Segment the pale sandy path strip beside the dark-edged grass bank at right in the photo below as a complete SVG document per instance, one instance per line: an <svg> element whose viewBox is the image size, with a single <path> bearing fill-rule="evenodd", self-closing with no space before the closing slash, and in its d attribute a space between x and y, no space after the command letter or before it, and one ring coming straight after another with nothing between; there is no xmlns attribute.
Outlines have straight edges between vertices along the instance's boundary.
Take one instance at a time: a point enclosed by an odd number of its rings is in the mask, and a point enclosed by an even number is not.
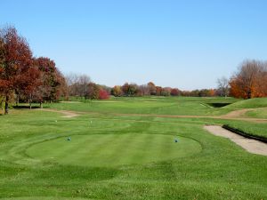
<svg viewBox="0 0 267 200"><path fill-rule="evenodd" d="M204 128L206 131L211 132L216 136L232 140L240 147L246 149L249 153L267 156L267 144L261 141L244 138L243 136L223 129L223 127L218 125L206 125Z"/></svg>

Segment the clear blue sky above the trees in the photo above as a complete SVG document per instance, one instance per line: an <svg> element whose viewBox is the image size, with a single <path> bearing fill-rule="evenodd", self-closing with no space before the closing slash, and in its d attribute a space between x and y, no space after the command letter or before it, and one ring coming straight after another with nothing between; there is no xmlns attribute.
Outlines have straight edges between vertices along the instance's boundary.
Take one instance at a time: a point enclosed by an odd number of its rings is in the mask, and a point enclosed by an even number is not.
<svg viewBox="0 0 267 200"><path fill-rule="evenodd" d="M98 84L214 88L267 60L266 0L0 0L36 57Z"/></svg>

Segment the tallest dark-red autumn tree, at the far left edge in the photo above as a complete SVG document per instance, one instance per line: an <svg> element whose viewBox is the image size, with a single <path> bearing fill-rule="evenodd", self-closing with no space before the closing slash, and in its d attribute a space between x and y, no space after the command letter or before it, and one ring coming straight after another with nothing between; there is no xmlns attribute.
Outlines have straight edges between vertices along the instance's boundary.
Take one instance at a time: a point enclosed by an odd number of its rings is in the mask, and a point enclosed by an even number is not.
<svg viewBox="0 0 267 200"><path fill-rule="evenodd" d="M30 88L36 76L28 76L33 69L32 52L26 39L19 36L16 28L2 28L0 33L0 91L5 97L5 114L8 114L8 103L15 92ZM27 77L27 78L26 78ZM28 80L26 83L25 78Z"/></svg>

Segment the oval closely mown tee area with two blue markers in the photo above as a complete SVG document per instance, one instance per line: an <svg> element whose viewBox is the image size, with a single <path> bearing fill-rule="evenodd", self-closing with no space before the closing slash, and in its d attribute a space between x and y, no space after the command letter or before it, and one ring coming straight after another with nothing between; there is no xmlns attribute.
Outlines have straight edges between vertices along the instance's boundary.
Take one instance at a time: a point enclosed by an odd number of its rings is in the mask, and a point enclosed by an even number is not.
<svg viewBox="0 0 267 200"><path fill-rule="evenodd" d="M91 134L46 140L26 149L26 154L44 161L87 166L148 164L201 151L196 140L163 134Z"/></svg>

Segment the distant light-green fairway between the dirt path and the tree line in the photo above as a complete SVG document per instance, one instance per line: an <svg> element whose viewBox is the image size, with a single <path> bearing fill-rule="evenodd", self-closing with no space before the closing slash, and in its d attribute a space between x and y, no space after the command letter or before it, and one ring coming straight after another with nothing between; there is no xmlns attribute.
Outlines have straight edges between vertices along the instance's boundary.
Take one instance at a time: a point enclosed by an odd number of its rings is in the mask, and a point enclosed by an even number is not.
<svg viewBox="0 0 267 200"><path fill-rule="evenodd" d="M214 116L229 112L228 108L213 108L208 103L232 103L233 98L190 98L190 97L142 97L112 98L110 100L86 100L87 103L58 103L49 107L56 109L121 114L154 114L184 116Z"/></svg>

